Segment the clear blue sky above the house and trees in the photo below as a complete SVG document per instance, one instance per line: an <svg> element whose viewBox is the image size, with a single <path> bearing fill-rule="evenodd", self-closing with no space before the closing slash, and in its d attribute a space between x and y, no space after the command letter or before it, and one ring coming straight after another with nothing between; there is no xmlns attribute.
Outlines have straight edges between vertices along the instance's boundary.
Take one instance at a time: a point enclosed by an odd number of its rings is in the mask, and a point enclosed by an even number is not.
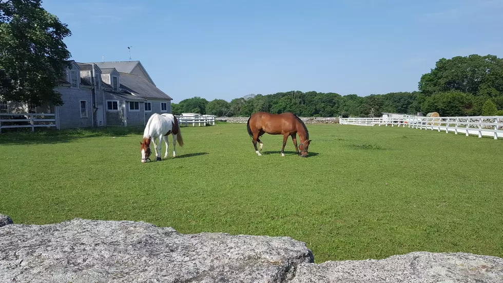
<svg viewBox="0 0 503 283"><path fill-rule="evenodd" d="M173 102L417 90L456 55L503 51L503 0L45 0L78 62L140 60Z"/></svg>

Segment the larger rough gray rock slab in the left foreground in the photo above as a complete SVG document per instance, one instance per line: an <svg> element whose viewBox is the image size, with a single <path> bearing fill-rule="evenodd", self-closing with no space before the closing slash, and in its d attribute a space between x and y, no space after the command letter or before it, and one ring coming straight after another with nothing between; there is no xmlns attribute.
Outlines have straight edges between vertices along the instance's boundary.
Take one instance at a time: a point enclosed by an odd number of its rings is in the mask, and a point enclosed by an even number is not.
<svg viewBox="0 0 503 283"><path fill-rule="evenodd" d="M0 228L0 282L283 282L313 262L288 237L184 235L132 221Z"/></svg>

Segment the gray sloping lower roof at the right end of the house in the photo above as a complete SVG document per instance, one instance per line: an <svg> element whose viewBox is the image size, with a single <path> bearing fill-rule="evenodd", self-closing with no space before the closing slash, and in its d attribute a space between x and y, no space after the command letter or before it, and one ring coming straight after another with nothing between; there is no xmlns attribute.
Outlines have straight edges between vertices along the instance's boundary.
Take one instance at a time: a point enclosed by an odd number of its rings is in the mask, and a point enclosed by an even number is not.
<svg viewBox="0 0 503 283"><path fill-rule="evenodd" d="M153 98L173 100L162 90L160 90L138 74L130 74L124 72L119 72L119 74L121 75L121 88L125 89L128 92L134 93L138 97L143 97L146 99Z"/></svg>

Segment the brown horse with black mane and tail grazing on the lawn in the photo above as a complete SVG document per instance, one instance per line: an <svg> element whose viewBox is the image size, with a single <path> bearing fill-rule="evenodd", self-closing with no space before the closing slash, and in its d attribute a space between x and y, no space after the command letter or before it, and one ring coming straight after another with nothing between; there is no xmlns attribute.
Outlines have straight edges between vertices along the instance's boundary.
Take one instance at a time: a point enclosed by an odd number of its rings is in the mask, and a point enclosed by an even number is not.
<svg viewBox="0 0 503 283"><path fill-rule="evenodd" d="M253 138L253 146L255 146L255 153L261 156L257 149L257 142L260 143L260 151L264 144L260 141L260 137L267 133L269 135L283 135L283 147L281 147L281 156L285 156L284 150L288 137L292 137L295 145L295 151L302 157L307 157L307 149L309 147L309 132L300 120L299 117L287 112L283 114L270 114L267 112L256 112L251 115L246 124L248 134ZM300 137L300 145L297 147L297 133ZM299 153L300 149L300 153Z"/></svg>

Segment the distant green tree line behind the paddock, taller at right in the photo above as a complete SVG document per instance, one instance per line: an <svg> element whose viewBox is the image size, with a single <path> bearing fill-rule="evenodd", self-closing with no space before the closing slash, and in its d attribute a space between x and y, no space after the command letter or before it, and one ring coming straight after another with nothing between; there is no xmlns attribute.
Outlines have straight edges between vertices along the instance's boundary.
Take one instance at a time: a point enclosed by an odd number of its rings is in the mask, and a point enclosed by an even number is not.
<svg viewBox="0 0 503 283"><path fill-rule="evenodd" d="M173 114L250 116L257 111L303 117L380 117L381 112L440 116L503 116L503 59L495 55L442 58L421 76L418 91L360 97L335 92L287 91L247 95L230 102L194 97L171 104ZM499 110L498 110L499 109Z"/></svg>

